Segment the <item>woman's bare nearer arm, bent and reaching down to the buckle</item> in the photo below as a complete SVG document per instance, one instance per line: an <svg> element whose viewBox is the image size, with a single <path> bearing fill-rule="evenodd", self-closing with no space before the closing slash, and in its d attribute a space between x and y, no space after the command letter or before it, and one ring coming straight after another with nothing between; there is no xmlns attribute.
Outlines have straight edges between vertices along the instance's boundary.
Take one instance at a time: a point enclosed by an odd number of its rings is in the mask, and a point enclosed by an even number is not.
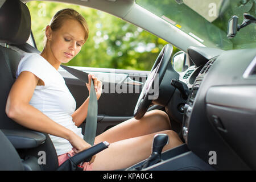
<svg viewBox="0 0 256 182"><path fill-rule="evenodd" d="M38 81L39 78L31 72L24 71L20 73L7 98L7 116L28 129L69 140L77 152L90 147L73 131L52 121L47 115L29 104Z"/></svg>

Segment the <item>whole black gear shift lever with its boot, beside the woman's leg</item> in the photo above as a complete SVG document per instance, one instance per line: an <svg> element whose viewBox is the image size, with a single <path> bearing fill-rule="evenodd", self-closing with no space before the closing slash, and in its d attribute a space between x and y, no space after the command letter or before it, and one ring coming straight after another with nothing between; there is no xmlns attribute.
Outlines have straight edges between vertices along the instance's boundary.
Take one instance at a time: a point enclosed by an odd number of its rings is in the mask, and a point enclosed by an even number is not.
<svg viewBox="0 0 256 182"><path fill-rule="evenodd" d="M169 136L167 134L156 134L153 139L150 157L142 164L142 166L136 167L135 170L141 170L159 163L161 161L163 147L168 143Z"/></svg>

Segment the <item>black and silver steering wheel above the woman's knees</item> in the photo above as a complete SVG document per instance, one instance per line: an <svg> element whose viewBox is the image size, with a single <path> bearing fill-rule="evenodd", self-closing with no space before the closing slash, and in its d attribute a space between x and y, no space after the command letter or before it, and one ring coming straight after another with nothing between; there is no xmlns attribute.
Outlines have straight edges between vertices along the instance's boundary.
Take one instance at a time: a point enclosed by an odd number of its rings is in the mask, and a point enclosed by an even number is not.
<svg viewBox="0 0 256 182"><path fill-rule="evenodd" d="M158 98L159 85L161 84L164 73L166 72L167 65L171 60L172 46L171 44L166 44L163 47L155 63L147 77L146 82L142 88L142 92L139 95L137 104L134 109L134 118L141 119L146 113L148 107L150 106L152 100ZM152 86L154 85L154 88Z"/></svg>

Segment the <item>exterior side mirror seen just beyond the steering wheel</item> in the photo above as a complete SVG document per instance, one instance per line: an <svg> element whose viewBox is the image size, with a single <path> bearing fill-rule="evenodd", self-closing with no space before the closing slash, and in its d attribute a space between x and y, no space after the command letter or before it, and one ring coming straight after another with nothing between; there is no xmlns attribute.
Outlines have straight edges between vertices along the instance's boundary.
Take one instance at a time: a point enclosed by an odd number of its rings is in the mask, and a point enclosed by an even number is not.
<svg viewBox="0 0 256 182"><path fill-rule="evenodd" d="M172 67L176 72L183 72L187 69L185 65L186 56L183 51L176 52L175 55L172 56Z"/></svg>

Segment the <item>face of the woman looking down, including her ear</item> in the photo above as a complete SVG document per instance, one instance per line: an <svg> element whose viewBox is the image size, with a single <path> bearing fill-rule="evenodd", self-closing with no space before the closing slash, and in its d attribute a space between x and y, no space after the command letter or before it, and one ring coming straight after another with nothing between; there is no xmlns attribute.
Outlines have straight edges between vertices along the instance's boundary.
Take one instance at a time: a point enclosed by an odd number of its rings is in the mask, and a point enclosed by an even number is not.
<svg viewBox="0 0 256 182"><path fill-rule="evenodd" d="M48 32L49 31L49 32ZM56 31L48 27L46 30L52 55L60 63L68 63L79 53L85 39L85 30L75 19L64 20Z"/></svg>

